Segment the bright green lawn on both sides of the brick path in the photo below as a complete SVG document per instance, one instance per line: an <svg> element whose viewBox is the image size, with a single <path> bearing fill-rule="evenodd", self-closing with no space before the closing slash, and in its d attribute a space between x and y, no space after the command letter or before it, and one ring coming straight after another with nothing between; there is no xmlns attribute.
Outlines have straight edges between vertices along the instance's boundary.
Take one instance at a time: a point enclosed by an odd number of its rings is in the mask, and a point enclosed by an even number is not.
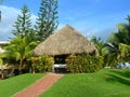
<svg viewBox="0 0 130 97"><path fill-rule="evenodd" d="M44 74L22 74L0 80L0 97L10 97ZM41 97L129 97L130 69L65 74Z"/></svg>

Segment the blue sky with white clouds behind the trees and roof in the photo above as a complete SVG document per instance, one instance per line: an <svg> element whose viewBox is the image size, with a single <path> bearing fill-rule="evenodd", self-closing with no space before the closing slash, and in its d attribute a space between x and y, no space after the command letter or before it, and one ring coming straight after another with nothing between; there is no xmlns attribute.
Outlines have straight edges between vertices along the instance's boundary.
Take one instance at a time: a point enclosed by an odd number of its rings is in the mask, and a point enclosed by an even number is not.
<svg viewBox="0 0 130 97"><path fill-rule="evenodd" d="M13 23L26 3L32 13L32 23L37 17L41 0L5 0L0 5L2 22L0 23L0 40L11 36ZM58 29L66 24L72 25L84 37L92 36L107 39L116 31L119 23L126 23L130 14L130 0L58 0Z"/></svg>

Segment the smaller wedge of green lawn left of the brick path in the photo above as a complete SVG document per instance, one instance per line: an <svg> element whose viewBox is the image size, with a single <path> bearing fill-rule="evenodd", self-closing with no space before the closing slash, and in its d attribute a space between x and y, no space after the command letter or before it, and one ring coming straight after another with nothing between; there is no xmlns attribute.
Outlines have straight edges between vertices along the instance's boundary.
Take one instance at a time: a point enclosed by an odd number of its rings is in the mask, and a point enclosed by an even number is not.
<svg viewBox="0 0 130 97"><path fill-rule="evenodd" d="M44 74L26 73L5 80L0 80L0 97L10 97L29 86Z"/></svg>

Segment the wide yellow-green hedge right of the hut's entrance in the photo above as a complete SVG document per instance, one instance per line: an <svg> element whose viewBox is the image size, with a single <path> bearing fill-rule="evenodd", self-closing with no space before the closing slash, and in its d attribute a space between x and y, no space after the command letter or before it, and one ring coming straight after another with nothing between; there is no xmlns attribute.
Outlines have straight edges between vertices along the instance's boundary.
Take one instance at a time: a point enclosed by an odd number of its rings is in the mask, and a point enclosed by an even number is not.
<svg viewBox="0 0 130 97"><path fill-rule="evenodd" d="M90 55L70 55L66 58L67 70L73 73L90 73L102 69L103 58Z"/></svg>

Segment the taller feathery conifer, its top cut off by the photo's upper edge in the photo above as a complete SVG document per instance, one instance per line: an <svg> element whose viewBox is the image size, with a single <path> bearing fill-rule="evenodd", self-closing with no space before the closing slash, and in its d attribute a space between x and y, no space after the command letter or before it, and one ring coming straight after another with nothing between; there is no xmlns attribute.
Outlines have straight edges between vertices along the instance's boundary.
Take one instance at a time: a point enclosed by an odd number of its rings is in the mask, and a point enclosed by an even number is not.
<svg viewBox="0 0 130 97"><path fill-rule="evenodd" d="M41 0L35 26L38 42L44 41L57 28L57 0Z"/></svg>

